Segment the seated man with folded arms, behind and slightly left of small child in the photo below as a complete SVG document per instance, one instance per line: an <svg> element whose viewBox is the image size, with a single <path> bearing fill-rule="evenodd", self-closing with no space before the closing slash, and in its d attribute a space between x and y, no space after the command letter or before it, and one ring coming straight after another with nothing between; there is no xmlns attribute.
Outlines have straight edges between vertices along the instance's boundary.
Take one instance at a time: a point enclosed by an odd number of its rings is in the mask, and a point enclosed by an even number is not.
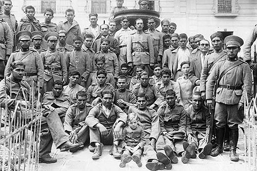
<svg viewBox="0 0 257 171"><path fill-rule="evenodd" d="M126 85L127 77L123 75L118 76L118 89L115 90L114 104L127 113L128 107L136 103L136 96L132 91L126 89Z"/></svg>

